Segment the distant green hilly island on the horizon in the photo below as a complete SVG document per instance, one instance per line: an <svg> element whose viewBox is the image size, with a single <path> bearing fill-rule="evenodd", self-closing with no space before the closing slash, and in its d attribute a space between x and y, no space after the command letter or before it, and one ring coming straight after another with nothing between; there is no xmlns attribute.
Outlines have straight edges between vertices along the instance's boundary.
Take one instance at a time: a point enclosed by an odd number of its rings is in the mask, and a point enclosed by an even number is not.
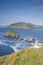
<svg viewBox="0 0 43 65"><path fill-rule="evenodd" d="M9 25L8 27L11 27L11 28L43 28L43 26L40 26L40 25L35 25L35 24L32 24L32 23L24 23L24 22L18 22L18 23L14 23L14 24L11 24Z"/></svg>

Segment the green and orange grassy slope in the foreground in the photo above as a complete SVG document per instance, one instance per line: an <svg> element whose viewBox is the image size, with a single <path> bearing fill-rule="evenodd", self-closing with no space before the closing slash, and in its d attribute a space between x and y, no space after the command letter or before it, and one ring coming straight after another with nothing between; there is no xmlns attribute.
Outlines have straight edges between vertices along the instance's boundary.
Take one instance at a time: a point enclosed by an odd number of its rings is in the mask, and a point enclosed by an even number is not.
<svg viewBox="0 0 43 65"><path fill-rule="evenodd" d="M26 48L19 53L0 57L0 65L43 65L43 47Z"/></svg>

